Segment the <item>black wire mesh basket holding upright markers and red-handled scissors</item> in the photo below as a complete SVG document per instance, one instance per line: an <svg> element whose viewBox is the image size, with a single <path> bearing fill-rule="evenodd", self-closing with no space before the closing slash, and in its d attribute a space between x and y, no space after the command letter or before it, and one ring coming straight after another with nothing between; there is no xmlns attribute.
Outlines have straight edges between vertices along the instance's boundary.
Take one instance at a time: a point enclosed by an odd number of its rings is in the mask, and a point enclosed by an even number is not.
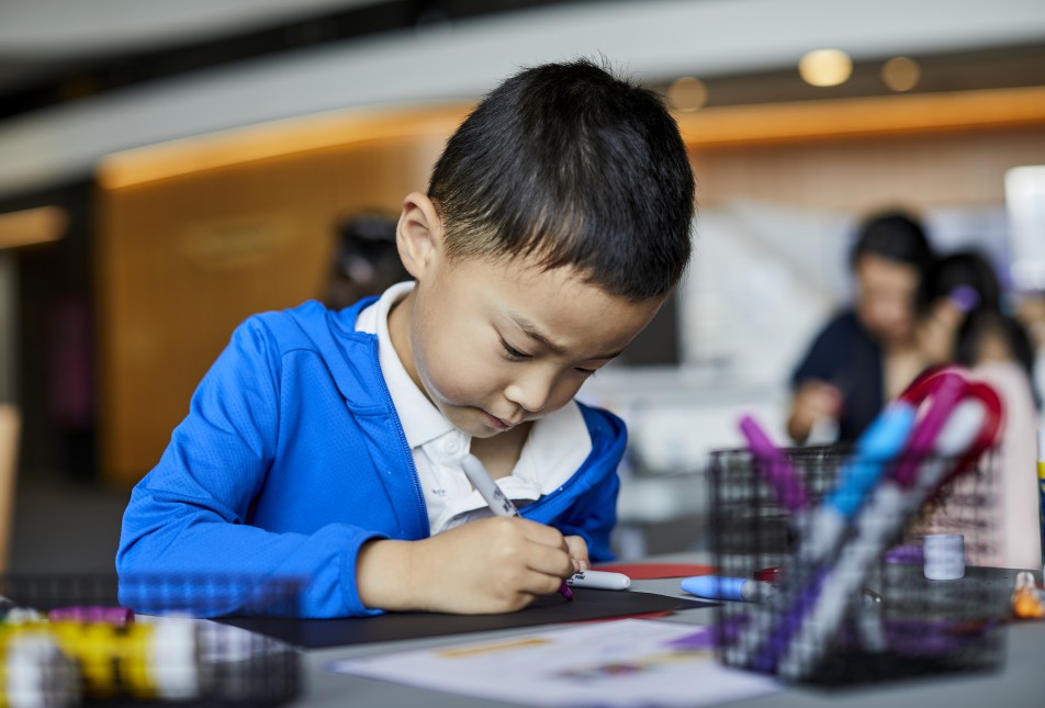
<svg viewBox="0 0 1045 708"><path fill-rule="evenodd" d="M852 685L997 667L1010 587L998 569L977 563L993 552L993 454L954 482L919 497L890 483L870 490L846 524L818 518L834 493L849 449L784 450L806 495L795 508L767 482L766 462L746 450L709 459L711 548L719 573L759 582L757 602L717 610L717 645L727 665L788 681ZM880 480L890 480L895 465ZM918 464L936 479L958 460ZM843 471L842 474L845 474ZM890 496L892 494L892 496ZM829 532L825 532L824 529ZM965 572L926 580L922 539L959 533Z"/></svg>

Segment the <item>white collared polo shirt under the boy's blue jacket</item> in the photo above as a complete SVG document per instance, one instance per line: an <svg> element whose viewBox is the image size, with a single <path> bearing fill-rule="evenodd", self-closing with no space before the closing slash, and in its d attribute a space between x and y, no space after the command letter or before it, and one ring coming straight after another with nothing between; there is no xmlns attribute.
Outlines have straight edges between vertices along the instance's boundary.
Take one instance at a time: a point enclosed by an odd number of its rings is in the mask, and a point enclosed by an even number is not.
<svg viewBox="0 0 1045 708"><path fill-rule="evenodd" d="M356 330L378 336L381 373L406 432L435 536L491 513L461 468L472 437L453 427L417 387L392 346L389 312L413 288L413 281L389 288L378 302L359 313ZM591 451L592 437L581 408L571 401L533 423L512 475L497 480L497 484L520 506L536 502L569 480Z"/></svg>

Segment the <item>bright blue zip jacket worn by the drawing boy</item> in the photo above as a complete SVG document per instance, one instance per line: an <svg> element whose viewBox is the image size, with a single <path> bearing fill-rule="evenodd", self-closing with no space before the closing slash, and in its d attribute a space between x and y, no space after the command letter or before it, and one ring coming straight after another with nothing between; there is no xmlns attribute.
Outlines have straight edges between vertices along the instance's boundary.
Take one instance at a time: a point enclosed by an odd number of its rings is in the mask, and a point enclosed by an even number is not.
<svg viewBox="0 0 1045 708"><path fill-rule="evenodd" d="M122 604L212 616L380 611L359 599L360 547L430 531L378 339L355 328L372 301L339 312L308 302L236 329L131 495L116 553ZM591 454L522 516L584 537L593 561L608 560L627 434L613 414L581 409ZM207 576L254 580L221 597L213 582L187 580ZM251 600L272 578L305 582L296 607Z"/></svg>

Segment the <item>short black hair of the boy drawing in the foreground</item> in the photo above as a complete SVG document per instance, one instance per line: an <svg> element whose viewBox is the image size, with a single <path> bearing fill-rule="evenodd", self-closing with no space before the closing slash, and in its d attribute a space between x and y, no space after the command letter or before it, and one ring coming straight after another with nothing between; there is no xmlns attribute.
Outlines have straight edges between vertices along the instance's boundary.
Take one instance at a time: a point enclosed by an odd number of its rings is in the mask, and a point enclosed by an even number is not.
<svg viewBox="0 0 1045 708"><path fill-rule="evenodd" d="M663 99L587 59L528 68L494 89L428 186L449 258L536 256L631 301L682 277L694 191Z"/></svg>

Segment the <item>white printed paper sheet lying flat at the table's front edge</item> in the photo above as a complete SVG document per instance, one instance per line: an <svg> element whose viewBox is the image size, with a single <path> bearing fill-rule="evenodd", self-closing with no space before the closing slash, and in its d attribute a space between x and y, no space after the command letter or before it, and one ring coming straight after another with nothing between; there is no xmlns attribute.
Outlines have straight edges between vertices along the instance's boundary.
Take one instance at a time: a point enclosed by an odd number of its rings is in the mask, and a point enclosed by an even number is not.
<svg viewBox="0 0 1045 708"><path fill-rule="evenodd" d="M332 663L330 671L533 706L708 706L779 684L722 666L708 627L621 619Z"/></svg>

